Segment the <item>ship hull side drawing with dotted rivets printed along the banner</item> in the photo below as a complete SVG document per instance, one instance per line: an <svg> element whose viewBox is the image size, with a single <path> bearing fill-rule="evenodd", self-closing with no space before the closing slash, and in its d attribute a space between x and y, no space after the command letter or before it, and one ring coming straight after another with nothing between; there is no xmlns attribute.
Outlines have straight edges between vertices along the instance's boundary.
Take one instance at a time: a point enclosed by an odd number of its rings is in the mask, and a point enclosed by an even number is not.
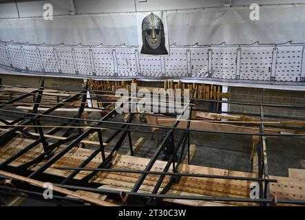
<svg viewBox="0 0 305 220"><path fill-rule="evenodd" d="M186 78L228 83L305 83L305 44L170 46L170 56L137 46L31 45L0 41L0 67L44 76Z"/></svg>

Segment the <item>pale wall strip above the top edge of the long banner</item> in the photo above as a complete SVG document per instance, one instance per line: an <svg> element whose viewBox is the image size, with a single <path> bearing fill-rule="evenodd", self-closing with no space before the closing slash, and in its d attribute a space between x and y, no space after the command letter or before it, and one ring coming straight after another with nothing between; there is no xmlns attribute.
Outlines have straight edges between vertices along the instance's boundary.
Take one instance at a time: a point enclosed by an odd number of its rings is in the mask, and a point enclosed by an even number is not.
<svg viewBox="0 0 305 220"><path fill-rule="evenodd" d="M222 7L230 0L49 0L16 3L0 2L1 18L41 17L43 4L52 3L54 15L141 12ZM231 0L231 5L305 3L305 0ZM18 10L17 10L18 8ZM19 13L18 13L19 12Z"/></svg>

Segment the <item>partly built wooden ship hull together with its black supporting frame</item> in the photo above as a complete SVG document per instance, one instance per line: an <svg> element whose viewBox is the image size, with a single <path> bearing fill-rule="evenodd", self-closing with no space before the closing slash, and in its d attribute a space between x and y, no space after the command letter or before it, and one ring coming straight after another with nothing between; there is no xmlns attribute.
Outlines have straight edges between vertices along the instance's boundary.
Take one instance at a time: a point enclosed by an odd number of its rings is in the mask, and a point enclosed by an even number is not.
<svg viewBox="0 0 305 220"><path fill-rule="evenodd" d="M165 87L175 89L171 83ZM180 87L181 83L177 85ZM211 100L207 91L200 90L204 87L199 86L198 90L194 85L191 87L189 120L176 120L176 115L150 115L155 117L156 123L135 123L141 113L129 113L125 122L116 122L109 120L115 117L116 107L109 109L101 120L87 119L87 112L105 109L99 104L90 106L88 102L98 102L98 96L112 98L118 87L128 89L123 82L103 85L97 80L88 80L83 89L46 87L44 80L40 87L1 85L0 192L44 200L43 184L50 182L54 186L50 201L75 206L304 205L305 174L269 175L267 139L305 137L305 117L264 113L264 107L305 109L304 106L231 102L221 100L216 89L209 90L211 97L215 97ZM200 111L198 102L253 105L260 108L260 113ZM12 106L19 108L7 109ZM67 109L74 115L52 115L65 107L73 107L73 111ZM7 120L8 117L14 120ZM271 126L264 120L266 117L281 121ZM162 118L171 118L171 121ZM222 121L223 118L226 121ZM259 123L255 124L257 118ZM48 129L43 122L58 125ZM141 130L143 127L151 131ZM105 139L103 130L113 133ZM141 141L132 144L132 131L160 133L165 137L151 158L138 157ZM177 131L182 135L176 135ZM191 165L191 133L253 136L257 173ZM96 135L97 141L90 140L91 135ZM178 141L173 141L174 137ZM129 142L129 153L120 155L118 150L125 140ZM109 148L110 142L115 142L112 148ZM85 148L86 144L96 148ZM158 158L165 148L171 148L171 154L167 161L162 161ZM262 189L255 199L249 195L253 182Z"/></svg>

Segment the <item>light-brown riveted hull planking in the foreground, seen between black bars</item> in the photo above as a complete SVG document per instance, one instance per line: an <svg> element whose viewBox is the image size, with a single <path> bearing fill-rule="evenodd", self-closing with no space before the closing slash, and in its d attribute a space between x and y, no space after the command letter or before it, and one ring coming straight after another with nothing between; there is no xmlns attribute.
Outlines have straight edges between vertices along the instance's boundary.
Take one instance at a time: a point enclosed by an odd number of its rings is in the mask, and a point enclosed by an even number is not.
<svg viewBox="0 0 305 220"><path fill-rule="evenodd" d="M16 154L33 140L26 140L23 138L15 137L8 142L5 146L0 147L0 162L5 161L12 155ZM63 146L61 146L63 148ZM61 150L59 148L57 151ZM74 148L64 157L59 159L53 166L45 170L45 173L67 177L70 171L59 170L54 166L74 166L77 167L85 160L93 150L86 148ZM25 153L23 156L12 162L11 166L19 166L38 157L43 152L41 144L32 148L31 151ZM143 157L132 157L129 155L116 155L113 161L112 168L124 168L132 170L144 170L149 159ZM37 164L31 170L36 170L42 166L44 162ZM96 156L87 167L97 167L101 163L101 155ZM156 161L151 170L162 171L167 162ZM293 170L291 173L295 173ZM204 166L193 166L188 164L180 164L180 173L196 173L196 174L210 174L210 175L231 175L239 177L257 177L254 173L244 173L234 170L224 170L219 168L209 168ZM89 171L81 171L76 175L76 179L81 179L84 175L90 173ZM94 182L103 184L100 188L107 188L112 190L130 190L138 179L139 174L134 173L98 173L98 177ZM151 192L156 186L158 175L147 175L145 181L140 187L139 192ZM299 172L298 175L293 177L275 177L270 176L271 179L277 179L277 183L271 183L271 196L276 195L277 199L304 199L305 198L305 172ZM169 177L165 177L163 184L160 188L165 186L169 181ZM51 180L52 182L52 180ZM250 181L240 181L231 179L208 179L199 177L182 177L179 184L173 184L169 190L169 195L205 195L205 196L218 196L218 197L248 197L251 184ZM159 190L159 192L160 192ZM106 197L99 197L105 199ZM183 203L190 206L224 206L224 205L244 205L244 206L257 206L256 203L214 203L204 201L187 201L179 199L167 199L173 203Z"/></svg>

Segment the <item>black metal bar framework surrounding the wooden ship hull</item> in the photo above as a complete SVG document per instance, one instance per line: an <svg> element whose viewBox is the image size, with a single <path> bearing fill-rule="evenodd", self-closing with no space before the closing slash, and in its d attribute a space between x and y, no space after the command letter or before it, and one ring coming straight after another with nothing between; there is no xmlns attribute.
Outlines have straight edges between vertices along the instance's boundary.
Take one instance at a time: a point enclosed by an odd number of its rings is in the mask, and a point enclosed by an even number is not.
<svg viewBox="0 0 305 220"><path fill-rule="evenodd" d="M8 87L6 85L2 85L3 87ZM33 87L35 88L35 87ZM17 131L23 133L24 135L35 138L34 142L32 144L29 144L25 148L23 148L19 153L13 155L12 157L8 158L5 162L2 162L0 164L1 170L9 170L12 173L17 173L19 175L26 175L33 179L43 179L44 171L50 166L52 166L56 161L61 159L63 155L65 155L68 151L70 151L72 148L78 146L78 144L81 143L82 140L84 140L86 137L88 137L92 133L98 133L98 141L100 143L100 147L96 148L93 153L87 157L83 163L78 168L73 167L57 167L58 169L64 169L64 170L73 170L72 173L66 177L66 178L59 178L59 181L54 182L54 184L57 184L64 188L69 188L72 190L87 190L90 192L97 192L97 193L103 193L107 195L116 195L120 196L122 202L127 205L134 205L134 204L143 204L143 199L145 200L145 204L148 205L154 205L160 203L162 199L195 199L195 200L203 200L203 201L236 201L236 202L254 202L254 203L260 203L261 205L272 205L275 201L273 198L271 198L270 195L270 188L269 183L270 182L276 182L276 179L269 179L269 168L267 163L267 155L266 155L266 137L268 136L296 136L296 137L303 137L305 135L303 134L273 134L273 133L266 133L265 132L265 124L264 124L264 117L270 117L270 116L276 116L276 115L265 115L264 114L264 107L284 107L284 108L292 108L292 109L305 109L305 106L288 106L288 105L280 105L280 104L264 104L261 102L260 104L253 104L253 103L246 103L246 102L230 102L230 101L223 101L223 100L205 100L205 99L198 99L198 98L191 98L190 102L186 104L186 107L190 107L191 111L193 111L193 102L201 101L201 102L228 102L231 104L251 104L255 105L257 107L260 107L260 114L246 114L241 113L243 115L258 115L260 116L261 124L260 124L260 133L237 133L237 132L225 132L225 131L205 131L200 129L190 129L191 124L191 113L189 115L189 121L187 122L186 128L180 128L177 127L180 120L178 116L178 120L173 124L173 126L157 126L157 125L149 125L149 124L135 124L132 123L132 120L134 118L135 113L131 113L129 115L129 118L127 122L113 122L108 121L109 118L116 113L116 108L112 111L109 111L107 115L105 115L101 120L87 120L82 119L81 115L83 114L84 108L85 108L85 102L87 100L87 91L96 91L96 90L90 90L87 89L87 85L85 85L84 89L70 89L72 91L77 91L77 93L64 100L63 102L60 102L58 104L55 104L54 107L51 107L50 109L43 111L42 113L38 113L37 109L39 108L39 104L41 102L41 98L43 97L43 90L44 89L63 89L63 88L57 88L57 87L44 87L44 81L41 81L41 86L37 88L36 90L33 90L32 92L28 94L23 94L19 96L18 98L14 98L12 100L3 102L0 104L0 115L1 116L14 116L17 117L17 120L14 120L13 122L7 122L3 118L0 118L1 122L4 122L7 126L12 126L12 128L9 131L5 131L0 134L0 143L1 145L6 144L12 137L17 135ZM65 88L64 90L69 90ZM111 93L109 91L98 91L98 92L105 92L105 93ZM193 91L192 93L193 94ZM12 104L14 102L23 100L24 98L27 98L29 96L33 96L33 109L31 112L21 112L21 111L10 111L5 110L3 107L5 107L7 104ZM132 94L129 93L129 97L132 97ZM55 115L49 115L49 113L52 113L55 109L58 109L59 107L63 107L66 102L71 102L77 99L81 99L81 105L78 109L78 113L74 117L62 117L62 116L55 116ZM131 98L127 100L128 102L131 101ZM14 113L15 115L11 115L11 113ZM224 112L228 113L228 112ZM16 116L17 115L17 116ZM58 140L52 144L48 144L46 141L48 138L45 137L43 129L41 128L41 121L52 121L52 119L61 119L63 120L63 125L72 124L77 126L83 125L82 122L91 122L94 124L90 124L90 129L87 129L86 131L82 131L81 128L77 128L78 135L72 135L72 131L74 131L73 128L67 129L65 133L63 133L62 137L66 137L65 140ZM289 118L289 117L288 117ZM299 119L299 118L298 118ZM302 120L305 120L305 118L302 118ZM18 124L17 124L18 123ZM39 137L33 137L28 131L24 131L23 126L26 126L30 123L33 123L35 127L36 133L39 133ZM58 123L58 122L57 122ZM62 123L62 122L61 122ZM16 124L18 126L16 126ZM113 125L119 125L119 126L109 126L109 124ZM246 124L246 123L244 123ZM132 139L131 139L131 131L137 131L137 132L149 132L149 131L141 131L141 130L133 130L132 127L157 127L161 129L166 129L166 135L165 138L162 140L160 145L158 146L156 153L154 156L150 159L149 163L145 167L145 170L123 170L123 169L112 169L110 168L112 166L112 159L114 158L114 155L116 155L116 152L120 149L120 147L123 145L124 140L126 137L128 137L129 140L129 147L131 151L131 155L134 155L133 147L132 147ZM1 128L1 126L0 126ZM115 130L114 134L109 137L107 140L103 140L103 133L101 129L113 129ZM47 134L54 134L61 130L61 128L54 128L50 129L50 131L47 132ZM173 151L172 155L169 157L168 162L165 166L165 168L162 170L162 172L156 172L151 171L151 168L154 166L154 163L158 159L160 153L165 148L165 145L169 140L173 140L175 131L182 131L182 135L180 136L178 142L174 144L172 141L171 144L173 144ZM235 134L235 135L257 135L260 137L259 144L257 145L257 153L258 153L258 160L259 160L259 170L258 170L258 178L247 178L247 177L233 177L233 176L219 176L219 175L192 175L188 173L179 173L178 168L182 162L182 158L187 153L188 155L188 162L189 162L189 146L190 146L190 133L191 132L205 132L205 133L224 133L224 134ZM120 137L118 138L118 141L114 145L114 148L112 148L112 151L105 156L105 150L104 150L104 144L109 143L116 136L120 134ZM13 168L10 166L10 163L13 162L15 159L20 157L21 155L27 153L30 151L30 149L34 148L38 144L43 145L44 152L39 155L39 157L36 157L31 162L28 162L26 164L23 164L21 166ZM67 144L64 146L64 148L59 151L59 153L56 153L54 155L54 149L59 148L59 146ZM185 152L185 147L187 146L187 152ZM178 150L180 150L180 155L177 158ZM85 168L87 164L89 164L96 155L101 153L102 161L101 164L98 165L97 168ZM46 160L47 162L38 168L37 170L30 172L28 168L31 166L34 166L35 164L38 164L42 160ZM169 169L172 166L172 172L169 172ZM83 177L83 179L76 181L74 177L81 171L81 170L90 170L92 171L89 175L86 175ZM98 189L96 188L96 185L92 184L92 179L96 177L98 172L119 172L119 173L139 173L140 177L138 178L138 181L136 181L136 184L134 184L134 187L130 191L116 191L116 190L104 190L104 189ZM29 173L29 174L28 174ZM143 193L138 192L140 189L140 186L143 184L143 181L149 174L154 175L160 175L156 186L154 186L154 190L152 190L151 193ZM165 179L165 176L171 176L170 181L168 182L167 186L165 186L160 192L160 186ZM177 196L177 195L167 195L166 193L171 188L171 185L173 183L178 183L180 181L181 177L202 177L202 178L216 178L216 179L232 179L232 180L241 180L241 181L257 181L260 184L260 198L259 199L250 199L250 198L234 198L234 197L198 197L198 196ZM6 177L2 177L6 178ZM20 184L19 184L20 185ZM21 184L22 185L22 184ZM24 184L24 187L28 186L28 184ZM29 195L41 195L40 192L37 192L36 189L34 190L28 190L26 191L25 188L12 188L12 187L4 187L0 186L0 191L5 190L16 190L16 192L26 192ZM12 191L10 191L12 192ZM76 203L79 203L79 199L67 199L66 197L62 197L61 195L57 195L56 199L58 200L68 200L68 201L75 201ZM140 200L139 200L140 199ZM284 200L280 199L277 200L277 203L305 203L305 200Z"/></svg>

